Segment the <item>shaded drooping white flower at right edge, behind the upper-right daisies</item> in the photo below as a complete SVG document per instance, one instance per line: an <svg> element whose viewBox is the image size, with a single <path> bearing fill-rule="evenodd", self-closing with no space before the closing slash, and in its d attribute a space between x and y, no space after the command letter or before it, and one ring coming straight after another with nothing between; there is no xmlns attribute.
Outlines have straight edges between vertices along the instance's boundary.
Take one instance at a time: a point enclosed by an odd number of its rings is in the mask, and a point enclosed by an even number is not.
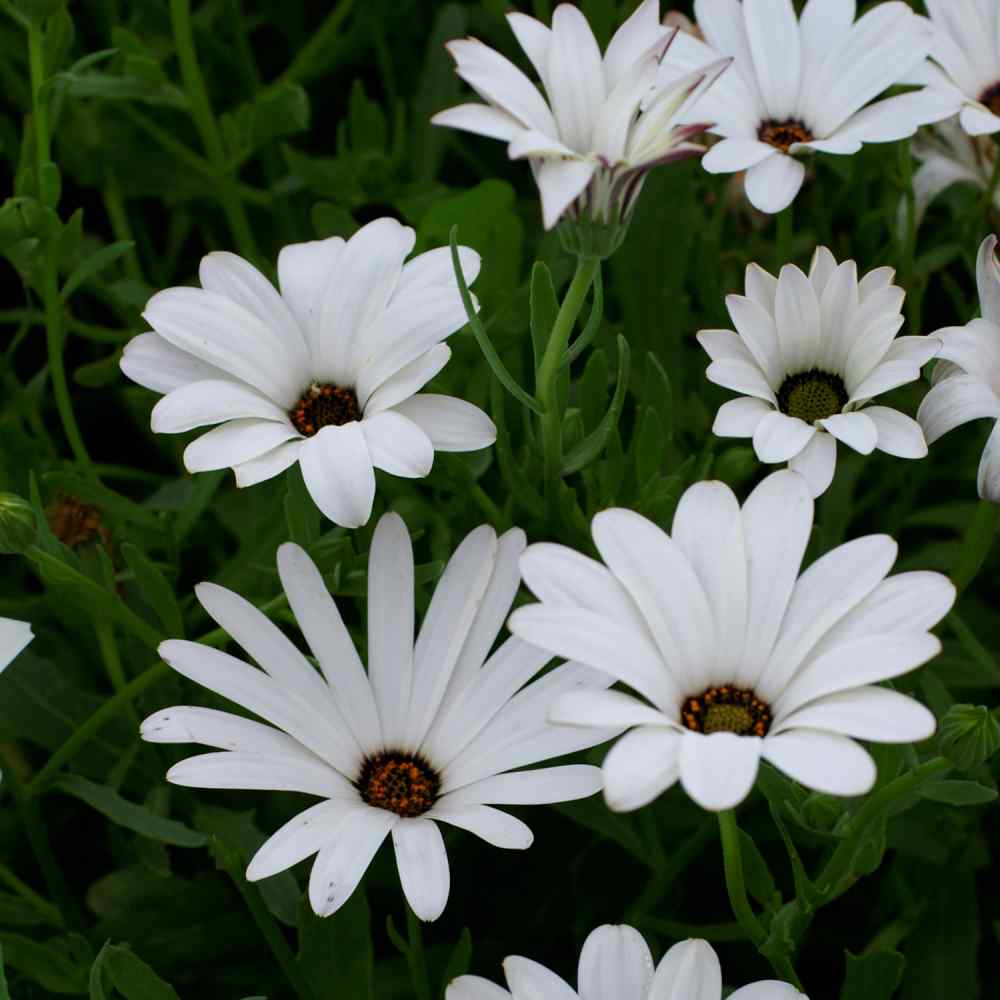
<svg viewBox="0 0 1000 1000"><path fill-rule="evenodd" d="M992 139L968 135L957 118L921 129L913 139L913 155L920 167L913 175L917 224L928 206L953 184L971 184L988 191L996 168L997 147ZM1000 191L993 194L993 207L1000 210ZM900 231L906 225L906 202L899 208Z"/></svg>

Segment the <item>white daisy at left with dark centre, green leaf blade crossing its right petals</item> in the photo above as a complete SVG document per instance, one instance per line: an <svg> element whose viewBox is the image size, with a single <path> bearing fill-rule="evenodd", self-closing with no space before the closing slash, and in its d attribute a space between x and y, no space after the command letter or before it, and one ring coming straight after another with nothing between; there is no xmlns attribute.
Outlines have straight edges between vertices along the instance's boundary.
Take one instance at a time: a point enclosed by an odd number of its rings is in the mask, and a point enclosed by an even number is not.
<svg viewBox="0 0 1000 1000"><path fill-rule="evenodd" d="M420 389L447 364L444 339L466 321L447 248L404 263L414 232L376 219L339 237L285 247L279 294L231 253L202 258L201 288L146 305L153 328L125 348L129 378L165 393L154 431L220 424L188 445L191 472L232 468L251 486L300 464L331 521L371 516L375 469L426 476L437 451L492 444L477 407ZM460 248L469 280L479 256Z"/></svg>

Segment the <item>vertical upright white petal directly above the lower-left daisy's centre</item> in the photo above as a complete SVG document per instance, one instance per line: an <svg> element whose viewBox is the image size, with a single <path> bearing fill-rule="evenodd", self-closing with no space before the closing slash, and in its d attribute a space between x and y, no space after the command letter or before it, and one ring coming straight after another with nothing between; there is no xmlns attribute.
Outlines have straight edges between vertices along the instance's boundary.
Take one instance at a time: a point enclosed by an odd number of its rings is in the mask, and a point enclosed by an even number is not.
<svg viewBox="0 0 1000 1000"><path fill-rule="evenodd" d="M387 745L402 745L413 687L413 547L403 519L383 514L368 554L368 674Z"/></svg>

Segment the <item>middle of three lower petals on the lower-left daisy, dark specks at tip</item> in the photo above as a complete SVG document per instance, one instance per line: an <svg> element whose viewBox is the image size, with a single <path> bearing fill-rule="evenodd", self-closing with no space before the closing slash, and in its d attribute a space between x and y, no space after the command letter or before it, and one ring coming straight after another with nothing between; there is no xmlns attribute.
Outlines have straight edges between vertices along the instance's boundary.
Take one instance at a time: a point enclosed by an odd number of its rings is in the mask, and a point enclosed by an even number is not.
<svg viewBox="0 0 1000 1000"><path fill-rule="evenodd" d="M344 817L309 875L309 902L318 916L330 916L350 899L386 834L398 822L395 813L365 805Z"/></svg>

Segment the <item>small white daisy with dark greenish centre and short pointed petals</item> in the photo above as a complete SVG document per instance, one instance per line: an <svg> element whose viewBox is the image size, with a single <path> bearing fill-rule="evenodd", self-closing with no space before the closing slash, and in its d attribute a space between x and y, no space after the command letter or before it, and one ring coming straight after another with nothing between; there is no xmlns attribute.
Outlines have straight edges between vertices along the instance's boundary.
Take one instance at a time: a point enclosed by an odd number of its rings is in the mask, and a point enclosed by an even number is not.
<svg viewBox="0 0 1000 1000"><path fill-rule="evenodd" d="M913 382L938 351L930 337L896 337L905 293L890 267L858 281L853 260L817 248L808 277L786 264L775 279L750 264L746 294L726 307L737 332L702 330L709 381L742 393L719 407L712 430L752 437L762 462L788 462L814 497L833 481L837 441L862 455L927 454L920 425L875 396Z"/></svg>

